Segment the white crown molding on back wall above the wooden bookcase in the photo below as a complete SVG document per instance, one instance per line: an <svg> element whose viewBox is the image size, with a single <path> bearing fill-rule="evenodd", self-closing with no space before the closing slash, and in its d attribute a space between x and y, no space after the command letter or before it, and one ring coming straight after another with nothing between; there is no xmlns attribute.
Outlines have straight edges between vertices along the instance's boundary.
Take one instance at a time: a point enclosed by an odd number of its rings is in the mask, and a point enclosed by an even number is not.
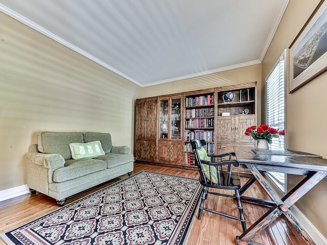
<svg viewBox="0 0 327 245"><path fill-rule="evenodd" d="M185 76L181 76L181 77L160 80L160 81L153 82L153 83L147 83L147 84L144 84L142 87L148 87L148 86L153 86L153 85L158 85L158 84L163 84L163 83L175 82L175 81L179 81L179 80L183 80L183 79L200 77L200 76L203 76L203 75L213 74L213 73L216 73L216 72L221 72L221 71L231 70L231 69L236 69L236 68L242 68L242 67L245 67L245 66L257 65L257 64L261 64L261 61L260 60L253 60L253 61L244 62L244 63L240 63L240 64L236 64L236 65L225 66L225 67L217 68L217 69L213 69L213 70L201 71L201 72L197 72L197 73L190 74L190 75L185 75Z"/></svg>

